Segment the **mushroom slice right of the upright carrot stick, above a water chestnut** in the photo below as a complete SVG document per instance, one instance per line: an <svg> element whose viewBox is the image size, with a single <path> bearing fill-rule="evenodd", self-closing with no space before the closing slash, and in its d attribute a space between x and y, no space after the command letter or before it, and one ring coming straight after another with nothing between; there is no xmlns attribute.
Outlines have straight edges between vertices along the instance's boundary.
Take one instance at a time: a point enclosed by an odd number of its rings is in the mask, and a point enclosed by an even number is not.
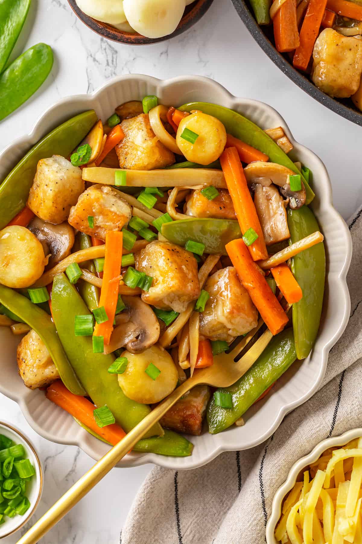
<svg viewBox="0 0 362 544"><path fill-rule="evenodd" d="M116 318L117 326L104 353L126 347L131 353L141 353L154 345L160 336L160 324L152 308L138 296L122 296L126 310Z"/></svg>

